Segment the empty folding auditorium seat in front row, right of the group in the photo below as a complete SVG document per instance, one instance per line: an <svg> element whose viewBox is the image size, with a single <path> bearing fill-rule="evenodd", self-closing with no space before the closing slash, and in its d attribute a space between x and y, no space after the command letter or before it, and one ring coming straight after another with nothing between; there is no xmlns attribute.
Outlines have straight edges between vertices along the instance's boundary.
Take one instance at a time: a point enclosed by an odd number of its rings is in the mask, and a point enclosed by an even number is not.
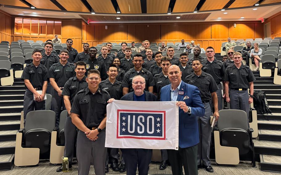
<svg viewBox="0 0 281 175"><path fill-rule="evenodd" d="M216 163L237 165L240 158L255 164L255 151L252 139L253 129L249 128L245 111L223 109L214 131Z"/></svg>

